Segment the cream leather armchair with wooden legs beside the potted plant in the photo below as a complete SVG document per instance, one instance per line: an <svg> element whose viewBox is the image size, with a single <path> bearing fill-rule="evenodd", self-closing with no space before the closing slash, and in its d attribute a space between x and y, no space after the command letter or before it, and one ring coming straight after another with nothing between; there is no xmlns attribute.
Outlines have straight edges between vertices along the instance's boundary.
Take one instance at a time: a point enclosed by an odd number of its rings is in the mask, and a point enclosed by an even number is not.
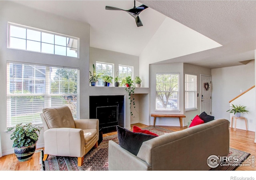
<svg viewBox="0 0 256 180"><path fill-rule="evenodd" d="M82 166L84 155L98 147L99 120L74 120L68 106L44 108L40 114L44 125L44 158L48 155L78 157Z"/></svg>

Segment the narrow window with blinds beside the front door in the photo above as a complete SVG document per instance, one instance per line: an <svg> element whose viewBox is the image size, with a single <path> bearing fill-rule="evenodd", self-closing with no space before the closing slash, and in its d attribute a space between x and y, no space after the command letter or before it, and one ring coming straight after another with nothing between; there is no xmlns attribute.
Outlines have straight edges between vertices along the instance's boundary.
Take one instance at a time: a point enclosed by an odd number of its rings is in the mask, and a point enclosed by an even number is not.
<svg viewBox="0 0 256 180"><path fill-rule="evenodd" d="M185 74L185 110L196 109L196 75Z"/></svg>

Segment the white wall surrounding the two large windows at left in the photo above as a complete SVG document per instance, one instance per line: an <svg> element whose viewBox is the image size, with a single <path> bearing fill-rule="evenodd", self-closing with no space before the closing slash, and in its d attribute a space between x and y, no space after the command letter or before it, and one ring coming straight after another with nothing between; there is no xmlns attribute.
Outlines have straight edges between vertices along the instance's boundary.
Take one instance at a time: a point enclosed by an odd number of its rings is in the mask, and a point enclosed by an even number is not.
<svg viewBox="0 0 256 180"><path fill-rule="evenodd" d="M57 32L80 38L80 58L71 58L52 54L42 54L7 48L7 22L14 22L34 28ZM80 118L89 117L89 96L85 93L89 89L89 24L64 19L54 14L33 10L17 5L11 1L0 1L0 136L2 155L13 153L10 133L6 133L6 62L18 61L36 64L49 64L80 68ZM37 146L43 146L43 130Z"/></svg>

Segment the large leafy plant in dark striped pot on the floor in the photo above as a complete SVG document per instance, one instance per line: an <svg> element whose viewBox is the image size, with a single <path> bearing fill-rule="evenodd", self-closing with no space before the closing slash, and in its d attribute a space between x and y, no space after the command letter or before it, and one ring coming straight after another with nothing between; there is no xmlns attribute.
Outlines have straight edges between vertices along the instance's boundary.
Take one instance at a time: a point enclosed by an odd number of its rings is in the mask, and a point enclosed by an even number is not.
<svg viewBox="0 0 256 180"><path fill-rule="evenodd" d="M7 131L13 130L14 127L8 128ZM22 125L17 124L14 132L12 132L10 139L14 140L13 148L14 154L18 161L23 162L30 160L36 150L36 143L40 134L41 128L37 125L28 123Z"/></svg>

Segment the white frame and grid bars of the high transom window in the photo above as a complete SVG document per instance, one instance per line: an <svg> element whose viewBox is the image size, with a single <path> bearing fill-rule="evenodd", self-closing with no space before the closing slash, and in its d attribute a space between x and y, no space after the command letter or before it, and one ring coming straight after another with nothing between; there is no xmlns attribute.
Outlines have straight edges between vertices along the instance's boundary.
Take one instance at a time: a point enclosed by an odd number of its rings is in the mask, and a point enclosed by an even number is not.
<svg viewBox="0 0 256 180"><path fill-rule="evenodd" d="M12 37L10 36L10 26L16 26L18 28L24 28L26 29L26 38L18 38L18 37ZM36 41L36 40L30 40L28 39L27 37L27 30L33 30L33 31L38 31L41 33L41 37L40 37L40 41ZM42 42L42 33L46 33L46 34L52 34L54 35L54 44L52 43L48 43L48 42ZM59 45L59 44L55 44L55 36L61 36L61 37L64 37L64 38L69 38L70 40L77 40L77 48L75 48L77 50L77 57L74 57L74 56L68 56L68 48L71 50L71 49L74 49L73 46L68 46L68 44L66 43L65 46L63 45ZM22 48L12 48L10 47L10 39L11 38L18 38L18 39L22 39L22 40L25 40L26 41L26 49L22 49ZM33 50L27 50L27 41L32 41L32 42L40 42L40 51L33 51ZM67 39L66 39L67 41ZM30 26L24 26L24 25L21 25L21 24L16 24L16 23L12 23L12 22L8 22L8 38L7 38L7 48L10 48L10 49L16 49L16 50L24 50L24 51L28 51L28 52L37 52L37 53L42 53L42 54L52 54L52 55L58 55L58 56L66 56L66 57L70 57L70 58L79 58L79 44L80 44L80 38L77 38L77 37L74 37L74 36L68 36L68 35L65 35L65 34L60 34L60 33L56 33L56 32L51 32L51 31L47 31L47 30L42 30L42 29L38 29L38 28L33 28L33 27L30 27ZM42 43L43 44L50 44L50 45L53 45L53 53L47 53L47 52L42 52ZM55 54L55 50L56 50L56 46L60 46L60 47L64 47L66 48L66 55L62 55L62 54Z"/></svg>

